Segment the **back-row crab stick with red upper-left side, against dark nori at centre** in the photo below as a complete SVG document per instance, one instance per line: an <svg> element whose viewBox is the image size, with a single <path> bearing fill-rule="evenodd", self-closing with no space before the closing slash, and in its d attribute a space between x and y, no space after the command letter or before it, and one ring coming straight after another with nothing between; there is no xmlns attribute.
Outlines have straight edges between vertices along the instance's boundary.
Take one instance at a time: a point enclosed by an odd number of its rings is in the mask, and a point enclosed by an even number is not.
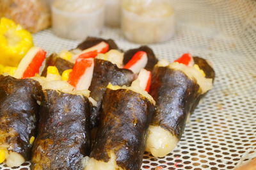
<svg viewBox="0 0 256 170"><path fill-rule="evenodd" d="M139 73L142 68L147 65L147 53L140 50L134 54L132 59L124 66L124 68L132 70L134 73Z"/></svg>

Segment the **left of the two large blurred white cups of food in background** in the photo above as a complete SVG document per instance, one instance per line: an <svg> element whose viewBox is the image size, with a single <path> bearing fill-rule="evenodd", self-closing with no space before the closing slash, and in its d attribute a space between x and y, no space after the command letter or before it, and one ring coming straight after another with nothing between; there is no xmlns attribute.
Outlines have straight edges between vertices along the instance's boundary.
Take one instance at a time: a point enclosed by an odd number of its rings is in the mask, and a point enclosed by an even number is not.
<svg viewBox="0 0 256 170"><path fill-rule="evenodd" d="M99 36L104 25L104 0L56 0L51 9L52 29L63 38Z"/></svg>

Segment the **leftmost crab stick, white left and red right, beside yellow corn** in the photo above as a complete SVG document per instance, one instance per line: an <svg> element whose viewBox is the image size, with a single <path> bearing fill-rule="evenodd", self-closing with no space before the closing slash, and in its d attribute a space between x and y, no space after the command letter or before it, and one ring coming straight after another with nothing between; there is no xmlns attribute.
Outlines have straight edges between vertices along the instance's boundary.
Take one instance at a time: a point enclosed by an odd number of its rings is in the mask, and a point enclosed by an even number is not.
<svg viewBox="0 0 256 170"><path fill-rule="evenodd" d="M39 73L40 66L45 59L46 52L40 47L32 47L28 53L19 63L19 66L14 73L14 77L17 79L26 79L34 77L36 73Z"/></svg>

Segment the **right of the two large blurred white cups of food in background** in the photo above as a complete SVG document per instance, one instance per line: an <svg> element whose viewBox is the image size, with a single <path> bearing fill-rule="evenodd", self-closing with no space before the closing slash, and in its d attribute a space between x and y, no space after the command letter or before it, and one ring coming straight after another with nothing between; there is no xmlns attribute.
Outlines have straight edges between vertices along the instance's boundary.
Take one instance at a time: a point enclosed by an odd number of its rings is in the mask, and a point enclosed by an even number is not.
<svg viewBox="0 0 256 170"><path fill-rule="evenodd" d="M131 42L147 44L169 40L175 27L170 1L124 0L121 27Z"/></svg>

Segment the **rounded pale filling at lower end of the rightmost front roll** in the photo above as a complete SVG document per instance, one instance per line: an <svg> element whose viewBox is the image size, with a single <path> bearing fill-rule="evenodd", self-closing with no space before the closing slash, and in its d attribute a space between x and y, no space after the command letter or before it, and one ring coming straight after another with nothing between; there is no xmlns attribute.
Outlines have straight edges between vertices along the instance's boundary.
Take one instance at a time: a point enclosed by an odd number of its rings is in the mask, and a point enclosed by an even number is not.
<svg viewBox="0 0 256 170"><path fill-rule="evenodd" d="M178 142L179 139L164 128L150 125L146 151L154 157L164 157L177 146Z"/></svg>

